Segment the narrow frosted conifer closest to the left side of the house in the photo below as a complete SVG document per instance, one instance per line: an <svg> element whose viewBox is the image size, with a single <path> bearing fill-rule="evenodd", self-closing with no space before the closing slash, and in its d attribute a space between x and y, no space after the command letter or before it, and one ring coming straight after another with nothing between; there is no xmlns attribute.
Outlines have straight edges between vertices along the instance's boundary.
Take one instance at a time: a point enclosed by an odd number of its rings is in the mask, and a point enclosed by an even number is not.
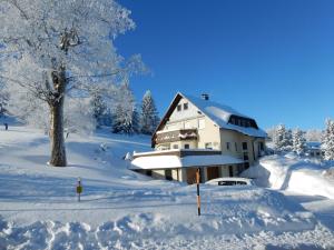
<svg viewBox="0 0 334 250"><path fill-rule="evenodd" d="M159 124L159 117L151 92L148 90L141 101L140 128L141 133L153 134Z"/></svg>

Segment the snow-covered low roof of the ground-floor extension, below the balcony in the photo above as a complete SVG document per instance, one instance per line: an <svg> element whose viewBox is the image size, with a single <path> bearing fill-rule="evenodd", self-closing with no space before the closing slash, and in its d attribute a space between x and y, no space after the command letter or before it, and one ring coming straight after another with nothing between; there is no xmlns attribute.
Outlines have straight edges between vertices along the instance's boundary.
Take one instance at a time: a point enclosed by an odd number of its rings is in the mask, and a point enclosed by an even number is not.
<svg viewBox="0 0 334 250"><path fill-rule="evenodd" d="M207 167L220 164L237 164L244 161L230 156L148 156L138 157L131 161L130 169L175 169L190 167Z"/></svg>

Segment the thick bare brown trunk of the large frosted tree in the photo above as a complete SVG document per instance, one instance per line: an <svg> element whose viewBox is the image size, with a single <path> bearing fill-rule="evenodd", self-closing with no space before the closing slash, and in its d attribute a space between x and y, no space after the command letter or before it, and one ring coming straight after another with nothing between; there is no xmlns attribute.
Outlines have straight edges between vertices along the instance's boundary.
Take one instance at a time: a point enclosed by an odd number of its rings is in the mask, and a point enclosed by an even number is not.
<svg viewBox="0 0 334 250"><path fill-rule="evenodd" d="M50 106L51 113L51 160L55 167L66 167L66 150L63 140L63 97Z"/></svg>

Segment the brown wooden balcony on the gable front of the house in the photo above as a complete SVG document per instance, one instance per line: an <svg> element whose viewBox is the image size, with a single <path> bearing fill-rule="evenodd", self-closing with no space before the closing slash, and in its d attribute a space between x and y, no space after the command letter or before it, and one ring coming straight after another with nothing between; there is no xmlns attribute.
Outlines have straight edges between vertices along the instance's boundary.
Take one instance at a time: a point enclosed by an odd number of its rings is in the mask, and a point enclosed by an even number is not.
<svg viewBox="0 0 334 250"><path fill-rule="evenodd" d="M155 143L169 143L184 140L197 140L197 129L179 129L173 131L158 131L155 137Z"/></svg>

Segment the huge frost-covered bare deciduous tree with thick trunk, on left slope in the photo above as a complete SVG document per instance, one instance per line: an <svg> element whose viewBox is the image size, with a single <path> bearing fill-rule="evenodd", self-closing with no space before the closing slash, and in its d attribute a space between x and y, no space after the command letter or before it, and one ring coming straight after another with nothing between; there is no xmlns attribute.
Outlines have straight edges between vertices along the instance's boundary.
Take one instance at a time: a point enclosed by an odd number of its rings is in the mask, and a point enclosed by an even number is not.
<svg viewBox="0 0 334 250"><path fill-rule="evenodd" d="M118 34L135 28L129 14L115 0L0 1L0 77L17 107L27 99L47 104L51 166L67 166L66 97L87 97L141 70L139 56L126 62L114 47Z"/></svg>

